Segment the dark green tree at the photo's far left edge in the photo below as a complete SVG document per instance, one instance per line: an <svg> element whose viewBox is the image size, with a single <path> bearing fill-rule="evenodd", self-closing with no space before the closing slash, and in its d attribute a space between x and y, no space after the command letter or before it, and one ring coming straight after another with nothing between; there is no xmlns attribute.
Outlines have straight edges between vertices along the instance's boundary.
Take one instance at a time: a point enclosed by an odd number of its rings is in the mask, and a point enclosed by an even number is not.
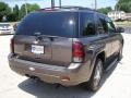
<svg viewBox="0 0 131 98"><path fill-rule="evenodd" d="M3 16L7 16L11 13L11 8L4 3L4 2L0 2L0 21L2 21Z"/></svg>

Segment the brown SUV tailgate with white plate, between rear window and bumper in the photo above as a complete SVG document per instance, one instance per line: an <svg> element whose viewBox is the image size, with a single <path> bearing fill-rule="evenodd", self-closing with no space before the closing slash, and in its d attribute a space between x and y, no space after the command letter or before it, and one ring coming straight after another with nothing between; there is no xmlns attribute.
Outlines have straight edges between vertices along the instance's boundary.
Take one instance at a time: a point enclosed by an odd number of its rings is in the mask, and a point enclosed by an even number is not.
<svg viewBox="0 0 131 98"><path fill-rule="evenodd" d="M68 65L72 61L72 38L15 36L14 52L20 59L34 62Z"/></svg>

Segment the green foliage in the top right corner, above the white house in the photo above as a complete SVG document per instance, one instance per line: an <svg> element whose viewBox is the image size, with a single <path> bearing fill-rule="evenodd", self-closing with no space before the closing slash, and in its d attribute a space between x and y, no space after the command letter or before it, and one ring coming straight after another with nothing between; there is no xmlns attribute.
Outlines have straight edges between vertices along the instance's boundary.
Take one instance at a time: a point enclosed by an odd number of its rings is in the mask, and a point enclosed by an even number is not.
<svg viewBox="0 0 131 98"><path fill-rule="evenodd" d="M131 12L131 0L119 0L116 7L118 10Z"/></svg>

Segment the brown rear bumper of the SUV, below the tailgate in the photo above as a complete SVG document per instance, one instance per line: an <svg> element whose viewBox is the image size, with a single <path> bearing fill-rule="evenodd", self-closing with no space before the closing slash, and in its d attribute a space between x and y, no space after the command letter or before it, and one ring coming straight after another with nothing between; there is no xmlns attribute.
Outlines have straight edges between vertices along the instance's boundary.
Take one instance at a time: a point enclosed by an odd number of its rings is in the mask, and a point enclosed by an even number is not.
<svg viewBox="0 0 131 98"><path fill-rule="evenodd" d="M72 63L67 68L25 61L9 54L9 64L14 72L36 76L46 83L73 86L88 81L87 71L83 71L85 69L81 63Z"/></svg>

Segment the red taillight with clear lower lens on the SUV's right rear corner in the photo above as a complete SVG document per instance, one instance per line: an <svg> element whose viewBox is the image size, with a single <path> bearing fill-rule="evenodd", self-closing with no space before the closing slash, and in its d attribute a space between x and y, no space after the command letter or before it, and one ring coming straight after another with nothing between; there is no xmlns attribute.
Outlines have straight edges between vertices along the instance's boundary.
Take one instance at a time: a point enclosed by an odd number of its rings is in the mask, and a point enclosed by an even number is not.
<svg viewBox="0 0 131 98"><path fill-rule="evenodd" d="M74 41L72 47L73 62L83 62L85 53L84 46L82 45L82 42Z"/></svg>

